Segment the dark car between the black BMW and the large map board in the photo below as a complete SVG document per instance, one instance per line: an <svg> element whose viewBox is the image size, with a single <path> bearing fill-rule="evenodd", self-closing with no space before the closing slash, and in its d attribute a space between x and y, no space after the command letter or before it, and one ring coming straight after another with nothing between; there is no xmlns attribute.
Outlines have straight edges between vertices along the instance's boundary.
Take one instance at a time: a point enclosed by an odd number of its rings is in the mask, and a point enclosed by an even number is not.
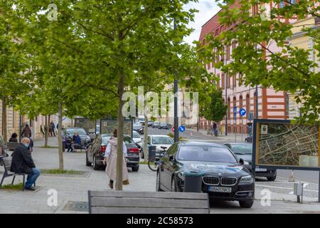
<svg viewBox="0 0 320 228"><path fill-rule="evenodd" d="M252 172L252 143L249 142L233 142L225 143L238 158L242 158L247 162L247 169ZM277 170L274 168L255 168L256 177L267 177L267 180L274 181L277 178Z"/></svg>

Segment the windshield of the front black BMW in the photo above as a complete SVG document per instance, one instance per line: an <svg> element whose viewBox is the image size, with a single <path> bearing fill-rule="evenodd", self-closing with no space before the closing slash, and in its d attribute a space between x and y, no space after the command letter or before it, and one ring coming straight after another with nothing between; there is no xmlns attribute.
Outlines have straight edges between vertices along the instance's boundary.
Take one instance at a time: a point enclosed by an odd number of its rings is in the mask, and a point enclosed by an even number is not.
<svg viewBox="0 0 320 228"><path fill-rule="evenodd" d="M228 148L210 145L182 146L178 154L178 160L237 163L237 160Z"/></svg>

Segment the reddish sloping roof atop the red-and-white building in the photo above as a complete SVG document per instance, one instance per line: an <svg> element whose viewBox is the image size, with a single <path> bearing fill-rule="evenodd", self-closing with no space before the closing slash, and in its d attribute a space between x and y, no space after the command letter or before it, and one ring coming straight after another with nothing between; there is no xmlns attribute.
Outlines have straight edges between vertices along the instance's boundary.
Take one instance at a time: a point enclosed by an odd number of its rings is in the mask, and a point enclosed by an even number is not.
<svg viewBox="0 0 320 228"><path fill-rule="evenodd" d="M229 6L229 9L235 9L235 8L240 8L240 3L238 1L235 1L233 5ZM218 11L217 14L215 14L209 21L206 22L206 24L202 26L199 41L203 41L203 39L209 33L213 33L217 31L217 34L215 34L215 36L217 36L221 31L225 30L225 28L223 27L223 24L220 24L220 21L219 21L219 14L221 11L222 9L220 9L220 11Z"/></svg>

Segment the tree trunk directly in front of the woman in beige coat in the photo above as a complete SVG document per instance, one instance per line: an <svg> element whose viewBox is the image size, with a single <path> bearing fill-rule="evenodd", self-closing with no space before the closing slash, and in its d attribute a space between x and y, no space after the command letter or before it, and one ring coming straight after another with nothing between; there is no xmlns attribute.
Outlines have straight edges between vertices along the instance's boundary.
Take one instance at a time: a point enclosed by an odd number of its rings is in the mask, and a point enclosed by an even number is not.
<svg viewBox="0 0 320 228"><path fill-rule="evenodd" d="M120 73L118 82L118 95L119 95L119 108L118 108L118 128L117 128L117 177L116 177L116 190L122 191L122 160L123 160L123 125L124 118L122 115L122 107L124 100L122 95L124 93L124 73Z"/></svg>

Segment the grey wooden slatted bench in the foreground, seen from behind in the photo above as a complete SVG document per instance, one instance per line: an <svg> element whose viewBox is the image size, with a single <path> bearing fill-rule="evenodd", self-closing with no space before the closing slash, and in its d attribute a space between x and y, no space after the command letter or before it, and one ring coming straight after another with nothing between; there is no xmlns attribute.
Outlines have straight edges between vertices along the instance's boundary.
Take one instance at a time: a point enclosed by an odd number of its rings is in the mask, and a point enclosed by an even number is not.
<svg viewBox="0 0 320 228"><path fill-rule="evenodd" d="M207 193L88 191L90 214L208 214Z"/></svg>

